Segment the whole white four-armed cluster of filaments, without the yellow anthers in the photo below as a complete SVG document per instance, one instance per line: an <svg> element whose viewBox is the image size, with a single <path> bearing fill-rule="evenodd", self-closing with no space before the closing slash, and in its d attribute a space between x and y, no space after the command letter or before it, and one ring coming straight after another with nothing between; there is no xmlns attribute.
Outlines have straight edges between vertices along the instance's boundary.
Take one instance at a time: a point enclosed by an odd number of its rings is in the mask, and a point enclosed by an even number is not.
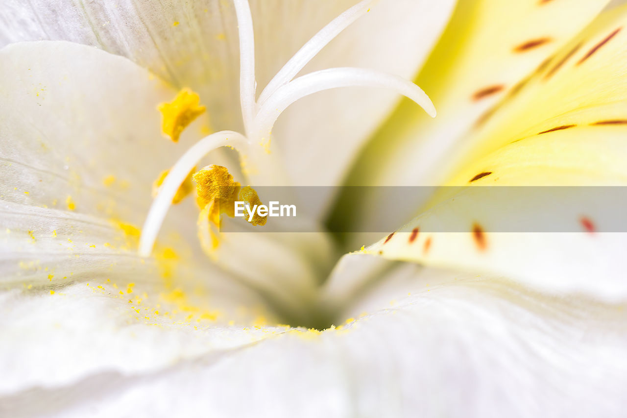
<svg viewBox="0 0 627 418"><path fill-rule="evenodd" d="M253 19L250 13L248 0L233 0L238 20L240 36L240 104L248 139L233 131L221 131L204 137L174 164L166 176L157 197L152 202L148 216L142 228L139 241L139 254L147 257L152 252L157 234L172 204L172 198L187 178L189 172L210 151L222 146L232 146L248 154L253 143L270 131L289 105L303 97L339 87L379 87L394 90L420 105L431 117L435 117L436 110L429 97L414 83L397 75L369 70L366 68L330 68L294 80L293 77L307 65L317 53L324 48L335 36L339 35L351 23L367 12L367 7L374 0L362 0L350 9L344 11L331 23L314 35L272 78L270 83L261 92L259 102L256 102L255 81L255 38L253 33ZM240 152L240 154L241 154ZM270 172L278 172L277 164L273 159L268 160L265 153L251 152L250 156L258 157L260 166ZM265 164L263 164L265 163Z"/></svg>

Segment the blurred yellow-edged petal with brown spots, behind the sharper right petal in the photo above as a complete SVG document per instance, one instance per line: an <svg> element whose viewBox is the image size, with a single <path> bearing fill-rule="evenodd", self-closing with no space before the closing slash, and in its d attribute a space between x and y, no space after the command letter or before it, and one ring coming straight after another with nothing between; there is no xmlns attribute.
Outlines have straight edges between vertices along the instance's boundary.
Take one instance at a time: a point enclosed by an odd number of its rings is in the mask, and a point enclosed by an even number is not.
<svg viewBox="0 0 627 418"><path fill-rule="evenodd" d="M459 1L440 43L416 78L433 100L438 117L431 120L412 104L401 105L356 160L347 184L442 185L468 152L465 145L478 119L515 92L520 80L586 28L607 3ZM416 198L406 207L418 208L422 203ZM338 206L349 204L371 208L370 218L362 221L366 225L386 213L381 196L374 193L346 196ZM398 218L413 215L404 212ZM334 222L359 220L342 217Z"/></svg>

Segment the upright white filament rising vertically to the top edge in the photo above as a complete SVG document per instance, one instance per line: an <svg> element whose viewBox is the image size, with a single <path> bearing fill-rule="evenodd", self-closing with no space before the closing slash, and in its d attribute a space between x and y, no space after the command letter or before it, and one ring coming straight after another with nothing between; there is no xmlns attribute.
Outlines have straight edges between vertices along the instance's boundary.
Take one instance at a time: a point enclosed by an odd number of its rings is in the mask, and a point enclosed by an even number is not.
<svg viewBox="0 0 627 418"><path fill-rule="evenodd" d="M240 104L246 134L255 118L255 34L248 0L233 0L240 35Z"/></svg>

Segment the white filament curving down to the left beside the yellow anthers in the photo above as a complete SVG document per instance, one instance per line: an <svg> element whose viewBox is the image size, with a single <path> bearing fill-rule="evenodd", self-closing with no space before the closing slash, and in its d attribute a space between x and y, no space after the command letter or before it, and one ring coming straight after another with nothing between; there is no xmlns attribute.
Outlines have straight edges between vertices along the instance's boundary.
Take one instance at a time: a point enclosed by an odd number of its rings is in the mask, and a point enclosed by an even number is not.
<svg viewBox="0 0 627 418"><path fill-rule="evenodd" d="M152 252L152 247L157 238L157 233L161 229L166 213L172 205L172 198L176 195L177 190L187 178L189 172L196 166L206 154L223 146L231 146L240 151L248 147L248 141L238 132L220 131L204 137L196 142L194 146L187 149L186 153L179 158L169 174L167 174L159 193L144 222L142 235L139 238L139 255L148 257Z"/></svg>

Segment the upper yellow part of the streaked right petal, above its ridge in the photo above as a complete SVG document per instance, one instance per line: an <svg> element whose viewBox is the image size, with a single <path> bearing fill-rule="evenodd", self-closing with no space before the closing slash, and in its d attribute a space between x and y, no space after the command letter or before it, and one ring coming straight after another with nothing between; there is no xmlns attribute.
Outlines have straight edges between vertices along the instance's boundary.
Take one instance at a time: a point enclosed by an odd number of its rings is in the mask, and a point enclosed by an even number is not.
<svg viewBox="0 0 627 418"><path fill-rule="evenodd" d="M627 99L626 24L624 6L599 16L488 110L466 141L461 166L510 142L550 138L553 132L574 132L581 127L627 124L627 114L619 104ZM602 135L606 131L593 132Z"/></svg>

